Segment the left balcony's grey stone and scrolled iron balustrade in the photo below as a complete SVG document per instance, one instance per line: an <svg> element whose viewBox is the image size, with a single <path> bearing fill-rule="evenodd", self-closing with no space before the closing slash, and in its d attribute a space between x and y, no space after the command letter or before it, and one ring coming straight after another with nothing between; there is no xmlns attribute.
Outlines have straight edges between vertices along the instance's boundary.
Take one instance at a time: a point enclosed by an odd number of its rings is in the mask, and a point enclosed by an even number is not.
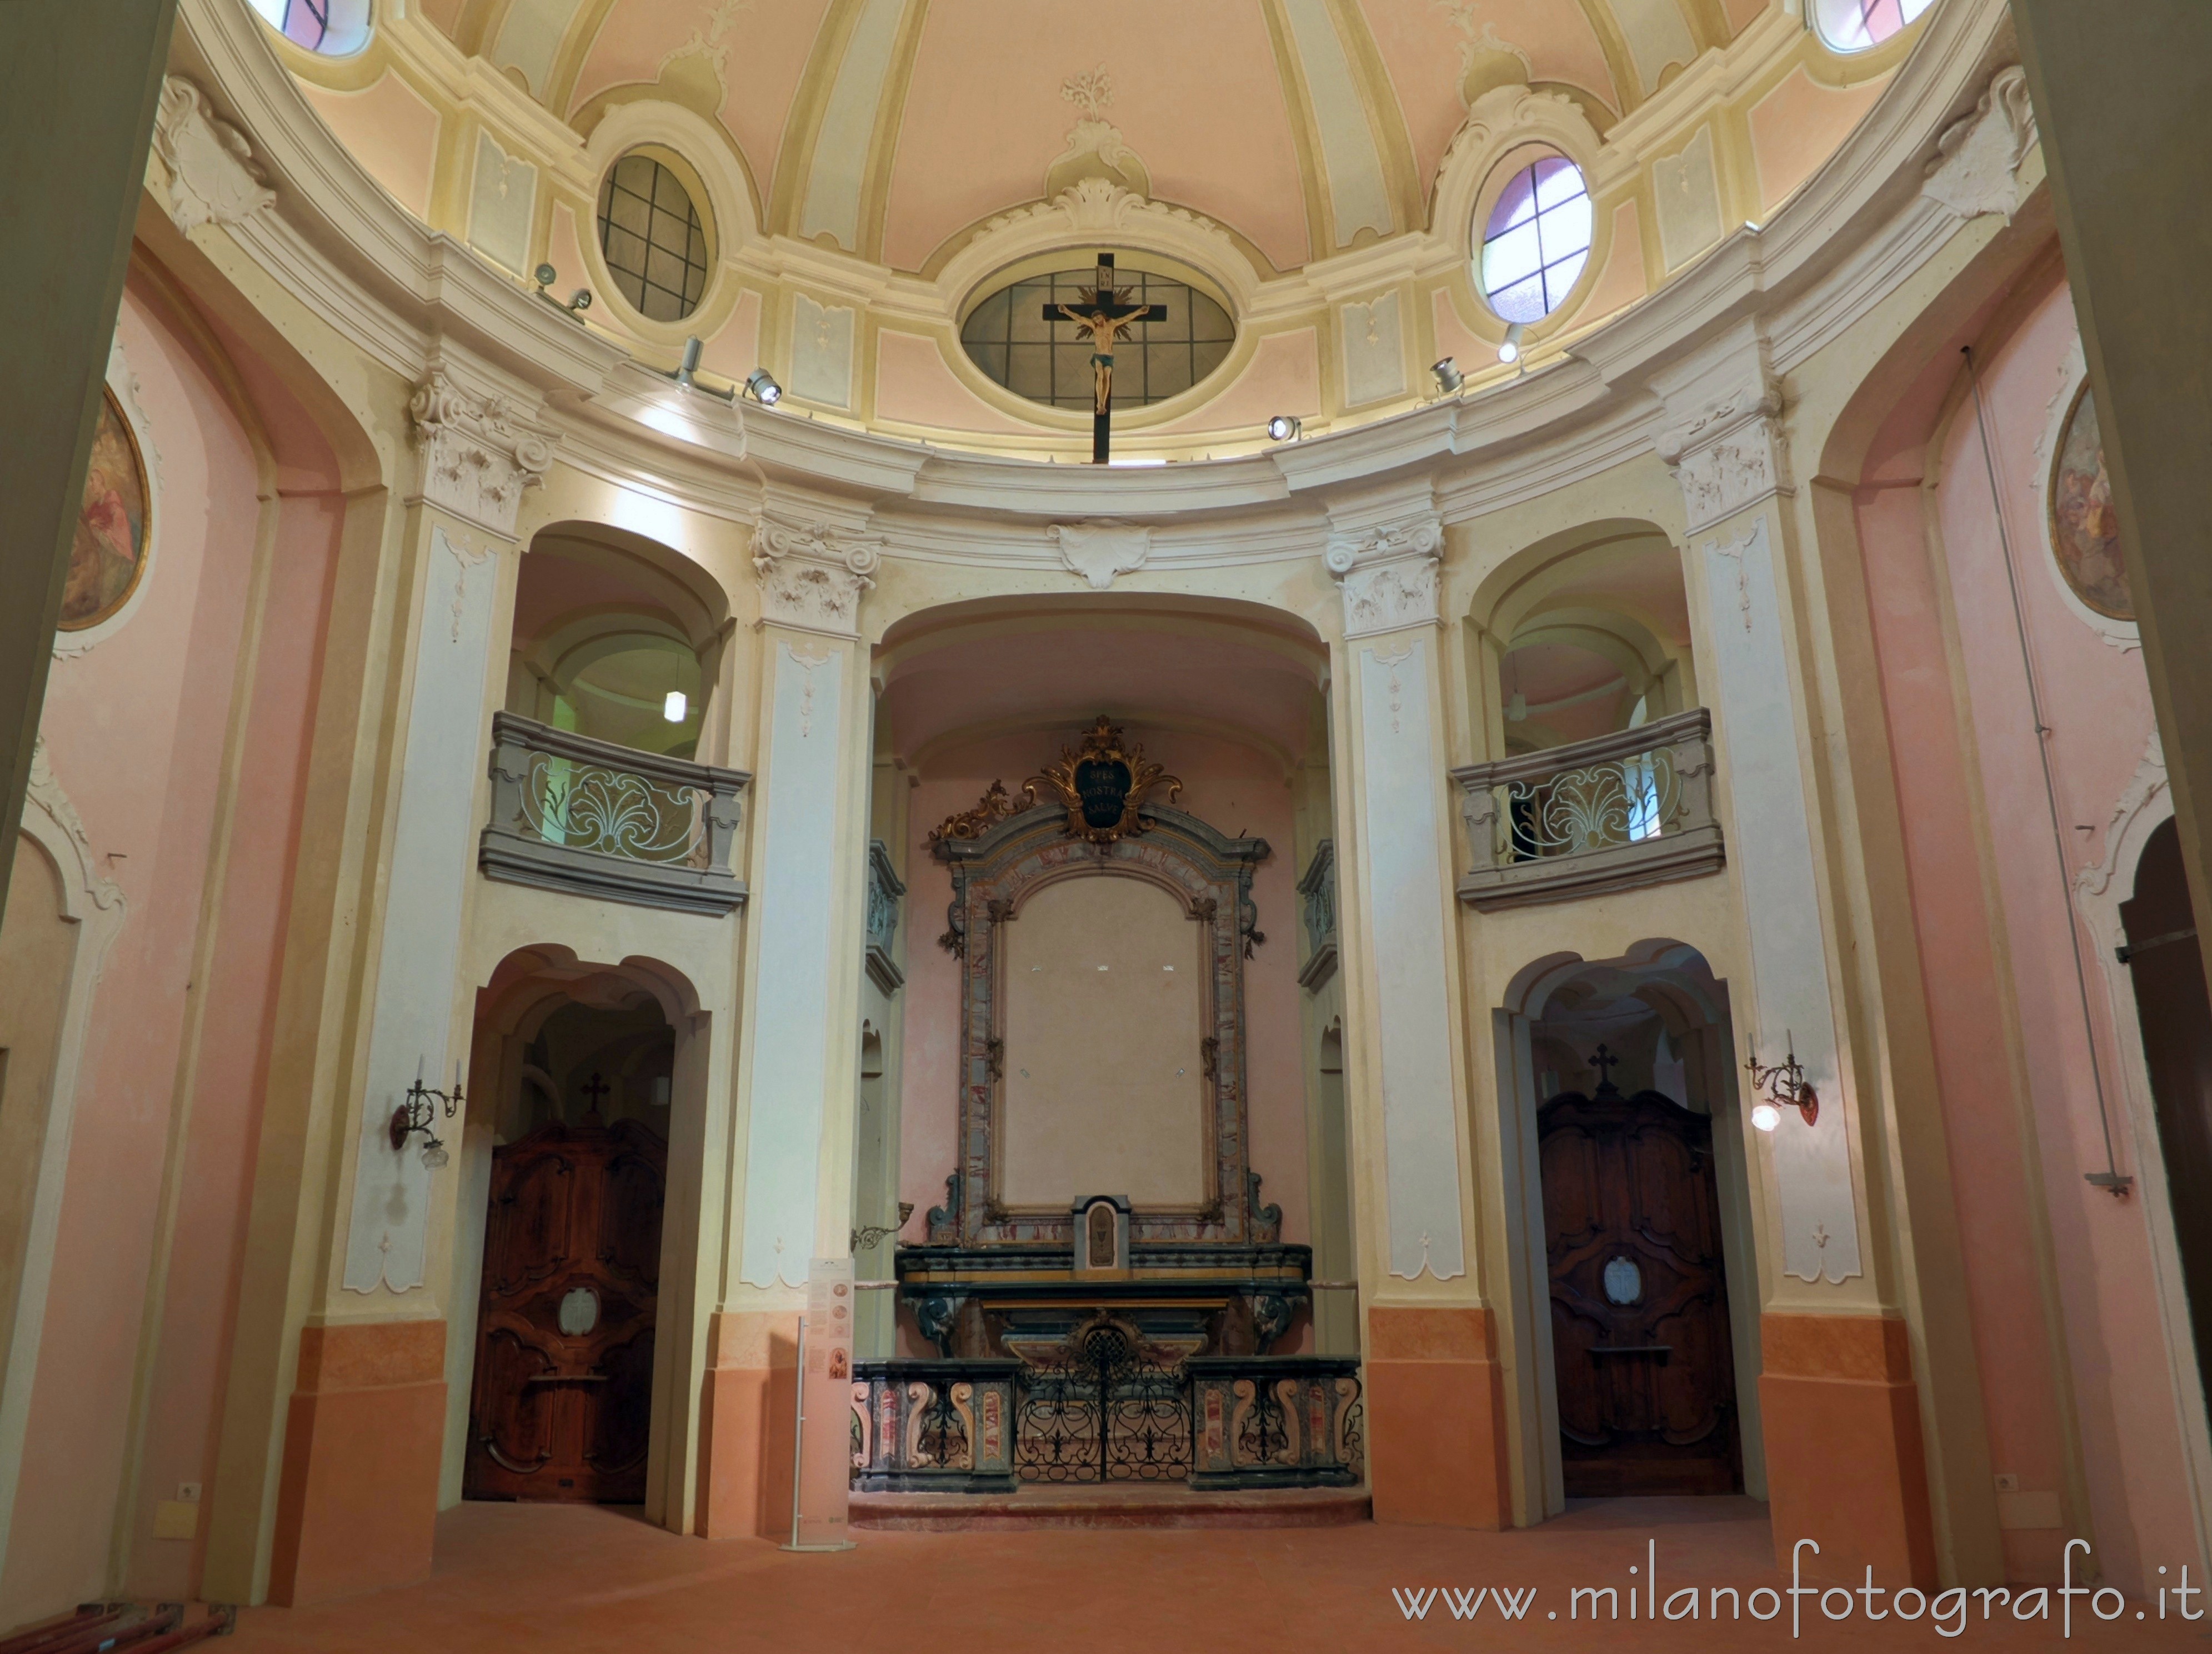
<svg viewBox="0 0 2212 1654"><path fill-rule="evenodd" d="M728 913L745 900L730 845L750 781L500 712L476 865L509 884Z"/></svg>

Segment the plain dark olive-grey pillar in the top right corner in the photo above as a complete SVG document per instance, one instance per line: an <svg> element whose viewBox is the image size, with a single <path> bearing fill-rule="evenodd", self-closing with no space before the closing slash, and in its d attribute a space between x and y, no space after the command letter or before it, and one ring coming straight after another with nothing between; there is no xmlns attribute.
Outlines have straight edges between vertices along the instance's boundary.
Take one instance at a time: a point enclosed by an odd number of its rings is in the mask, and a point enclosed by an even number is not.
<svg viewBox="0 0 2212 1654"><path fill-rule="evenodd" d="M2212 971L2212 7L2017 0L2013 22Z"/></svg>

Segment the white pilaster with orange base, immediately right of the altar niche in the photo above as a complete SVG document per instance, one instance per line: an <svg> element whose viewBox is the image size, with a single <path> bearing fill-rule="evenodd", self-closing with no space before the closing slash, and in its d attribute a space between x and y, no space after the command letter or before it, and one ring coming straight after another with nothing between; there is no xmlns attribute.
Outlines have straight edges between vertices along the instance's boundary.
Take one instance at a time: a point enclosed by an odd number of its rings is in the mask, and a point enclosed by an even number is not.
<svg viewBox="0 0 2212 1654"><path fill-rule="evenodd" d="M1422 491L1425 493L1425 491ZM1504 1528L1504 1378L1473 1269L1438 582L1427 498L1332 513L1345 1086L1376 1521Z"/></svg>

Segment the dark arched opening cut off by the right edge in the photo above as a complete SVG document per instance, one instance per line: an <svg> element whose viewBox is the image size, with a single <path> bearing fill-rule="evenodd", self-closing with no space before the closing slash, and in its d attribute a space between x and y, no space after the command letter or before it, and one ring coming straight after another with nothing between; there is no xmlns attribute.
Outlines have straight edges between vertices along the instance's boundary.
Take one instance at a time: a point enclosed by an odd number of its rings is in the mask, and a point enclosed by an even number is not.
<svg viewBox="0 0 2212 1654"><path fill-rule="evenodd" d="M2212 1002L2172 816L2143 842L2135 896L2119 904L2119 922L2128 933L2124 957L2143 1028L2166 1185L2212 1187ZM2172 1201L2172 1223L2203 1375L2212 1373L2212 1203Z"/></svg>

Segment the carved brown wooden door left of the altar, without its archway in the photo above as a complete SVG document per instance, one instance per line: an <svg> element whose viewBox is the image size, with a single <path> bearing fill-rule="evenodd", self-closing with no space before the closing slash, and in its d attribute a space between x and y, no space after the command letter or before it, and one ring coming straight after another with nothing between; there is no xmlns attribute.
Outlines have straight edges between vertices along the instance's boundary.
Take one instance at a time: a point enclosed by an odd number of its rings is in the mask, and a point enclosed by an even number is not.
<svg viewBox="0 0 2212 1654"><path fill-rule="evenodd" d="M469 1499L646 1497L668 1145L637 1121L491 1152Z"/></svg>

